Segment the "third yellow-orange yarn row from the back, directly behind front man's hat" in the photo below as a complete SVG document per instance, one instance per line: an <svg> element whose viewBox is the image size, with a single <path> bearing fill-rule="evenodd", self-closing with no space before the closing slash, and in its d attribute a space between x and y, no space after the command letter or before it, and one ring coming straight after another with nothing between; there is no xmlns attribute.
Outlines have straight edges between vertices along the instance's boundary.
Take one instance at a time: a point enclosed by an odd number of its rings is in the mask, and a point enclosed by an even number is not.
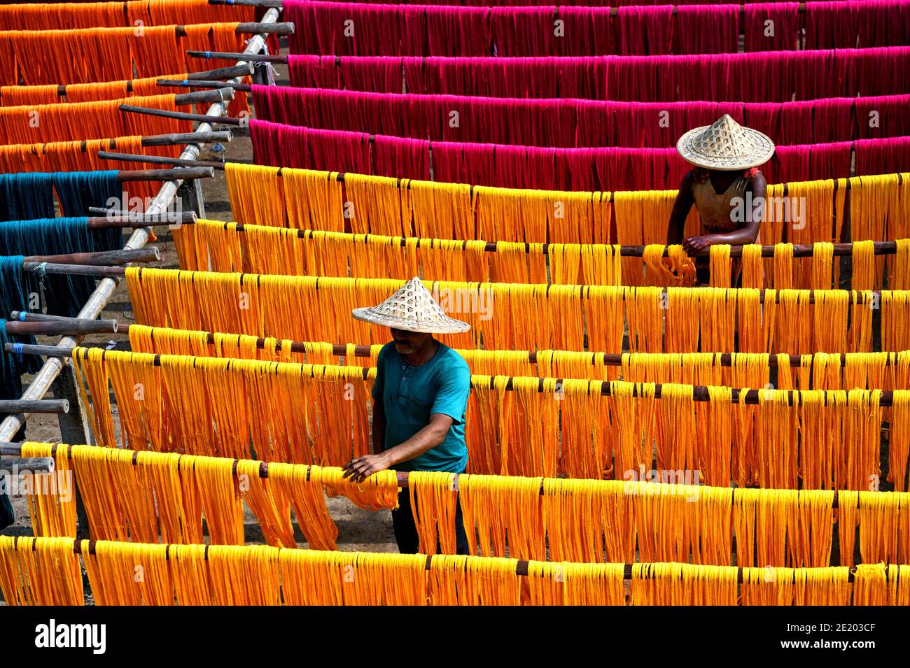
<svg viewBox="0 0 910 668"><path fill-rule="evenodd" d="M388 343L388 329L361 323L347 314L359 306L378 304L398 290L402 281L129 267L126 284L140 324L295 341L375 344ZM439 295L443 310L470 323L470 332L445 334L440 339L459 349L583 350L587 344L591 350L619 354L626 319L632 352L700 352L694 349L696 345L701 352L731 351L737 331L741 349L749 353L803 354L844 348L845 352L868 352L872 347L873 309L869 304L874 295L868 292L813 295L808 290L759 293L752 289L668 288L677 291L668 298L670 292L663 294L661 288L645 286L445 281L427 285L431 293ZM823 298L818 299L819 294ZM853 297L846 304L849 308L844 308L842 294L848 300ZM895 326L910 315L907 294L881 294L885 350L910 349L910 327ZM750 308L740 308L737 318L737 306L743 305ZM828 323L830 332L846 332L845 337L814 328L815 314L823 312L834 320L819 322ZM743 314L748 316L745 321ZM674 323L671 334L664 329L664 318ZM692 346L689 351L671 349L677 332ZM761 335L750 336L750 332ZM818 348L816 338L831 349Z"/></svg>

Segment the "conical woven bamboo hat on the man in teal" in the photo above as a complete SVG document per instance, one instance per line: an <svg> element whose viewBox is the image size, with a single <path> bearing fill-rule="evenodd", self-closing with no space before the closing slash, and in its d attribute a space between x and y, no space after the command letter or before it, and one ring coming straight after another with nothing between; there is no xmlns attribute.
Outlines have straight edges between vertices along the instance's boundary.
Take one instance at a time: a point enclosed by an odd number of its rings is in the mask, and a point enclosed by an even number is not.
<svg viewBox="0 0 910 668"><path fill-rule="evenodd" d="M426 334L460 334L470 324L450 318L433 295L414 277L379 306L355 308L351 314L366 323Z"/></svg>

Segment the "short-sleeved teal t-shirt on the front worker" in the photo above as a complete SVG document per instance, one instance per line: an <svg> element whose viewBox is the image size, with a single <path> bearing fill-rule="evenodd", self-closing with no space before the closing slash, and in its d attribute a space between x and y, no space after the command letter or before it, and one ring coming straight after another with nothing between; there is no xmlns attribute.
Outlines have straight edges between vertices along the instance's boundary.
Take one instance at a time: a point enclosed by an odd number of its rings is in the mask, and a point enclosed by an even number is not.
<svg viewBox="0 0 910 668"><path fill-rule="evenodd" d="M396 464L399 471L449 471L460 474L468 464L464 443L464 416L468 409L470 370L464 358L448 345L420 366L410 366L389 343L376 361L373 400L381 401L386 414L386 449L407 441L430 424L430 414L449 415L452 425L445 440L410 462Z"/></svg>

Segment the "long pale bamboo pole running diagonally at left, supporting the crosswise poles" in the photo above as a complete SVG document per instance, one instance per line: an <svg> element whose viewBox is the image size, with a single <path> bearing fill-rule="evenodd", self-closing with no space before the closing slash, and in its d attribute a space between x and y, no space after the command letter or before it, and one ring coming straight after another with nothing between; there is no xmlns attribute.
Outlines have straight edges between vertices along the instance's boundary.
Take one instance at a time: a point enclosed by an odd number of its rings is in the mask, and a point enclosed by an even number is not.
<svg viewBox="0 0 910 668"><path fill-rule="evenodd" d="M269 9L265 15L262 16L262 24L275 24L278 22L278 15L280 10L277 8ZM263 35L253 35L248 43L247 48L244 51L244 60L240 60L237 66L242 66L245 70L246 75L251 74L253 71L253 65L251 65L246 58L250 57L253 54L257 54L263 48L266 47L266 38ZM240 77L238 75L234 77L230 83L239 84L241 83ZM226 103L218 101L213 103L207 110L207 117L215 118L220 115L225 114L226 112ZM196 132L209 132L213 128L208 123L202 123L197 126ZM183 153L180 155L181 158L186 158L187 160L195 160L199 156L201 150L200 145L190 144L184 149ZM177 194L177 189L183 183L183 179L186 177L187 172L192 169L205 169L203 167L189 167L187 169L177 169L177 170L156 170L157 172L169 172L170 175L165 184L162 185L161 189L158 191L157 196L152 201L152 203L147 207L147 213L149 214L161 214L167 211L167 207L170 202L174 199ZM214 175L211 173L211 170L207 170L208 175ZM145 245L149 238L150 230L147 227L142 227L136 230L126 242L126 248L141 248ZM89 298L85 306L83 306L82 311L79 312L79 316L82 318L94 319L101 313L104 309L107 301L110 299L111 294L114 293L114 288L116 288L117 281L112 278L105 278L100 281L96 287L95 293ZM78 338L74 336L66 336L60 340L59 345L64 347L73 348L78 344ZM35 377L32 379L32 383L25 389L23 394L23 399L40 399L45 395L47 390L50 388L51 383L54 382L56 377L60 374L63 369L63 362L58 358L48 359L44 366L35 374ZM0 423L0 441L10 440L25 424L27 414L30 411L27 410L16 410L15 414L11 414L5 418L5 420Z"/></svg>

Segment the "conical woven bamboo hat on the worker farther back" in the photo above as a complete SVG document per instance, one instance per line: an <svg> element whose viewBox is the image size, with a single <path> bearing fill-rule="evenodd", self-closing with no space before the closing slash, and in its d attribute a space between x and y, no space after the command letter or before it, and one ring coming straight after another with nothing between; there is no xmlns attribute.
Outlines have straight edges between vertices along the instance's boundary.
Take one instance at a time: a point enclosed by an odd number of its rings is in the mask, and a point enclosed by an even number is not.
<svg viewBox="0 0 910 668"><path fill-rule="evenodd" d="M774 143L767 135L743 127L724 114L713 125L682 135L676 150L697 167L735 171L764 165L774 155Z"/></svg>

